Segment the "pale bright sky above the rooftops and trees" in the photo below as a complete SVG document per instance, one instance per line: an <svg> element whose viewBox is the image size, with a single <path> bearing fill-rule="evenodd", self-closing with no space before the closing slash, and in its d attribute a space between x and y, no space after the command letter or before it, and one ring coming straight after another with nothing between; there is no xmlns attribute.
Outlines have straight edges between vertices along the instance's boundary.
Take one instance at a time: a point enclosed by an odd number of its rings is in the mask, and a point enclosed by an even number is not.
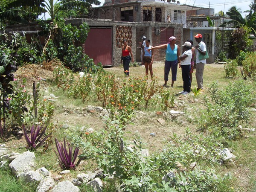
<svg viewBox="0 0 256 192"><path fill-rule="evenodd" d="M102 6L104 0L99 1L102 2L100 5ZM242 12L250 10L249 5L252 1L253 0L180 0L180 4L204 8L209 8L210 6L210 8L215 9L215 13L218 13L220 11L224 11L224 13L226 13L232 6L236 6L237 9L240 8ZM242 15L245 16L246 13L242 13ZM41 18L44 19L44 16L42 15ZM46 15L46 18L49 18L49 15Z"/></svg>

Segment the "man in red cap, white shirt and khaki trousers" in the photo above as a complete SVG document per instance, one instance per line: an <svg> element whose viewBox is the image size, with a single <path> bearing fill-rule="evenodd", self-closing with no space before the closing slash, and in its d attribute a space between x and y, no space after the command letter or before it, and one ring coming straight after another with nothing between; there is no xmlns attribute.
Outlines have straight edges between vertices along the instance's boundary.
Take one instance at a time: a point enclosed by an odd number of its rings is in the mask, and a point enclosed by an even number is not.
<svg viewBox="0 0 256 192"><path fill-rule="evenodd" d="M205 55L206 54L206 45L202 41L203 36L201 34L195 35L195 41L198 42L198 45L195 46L196 49L196 61L195 61L195 77L198 84L198 90L203 90L203 74L204 74L204 65L206 64L206 59L199 60L199 54Z"/></svg>

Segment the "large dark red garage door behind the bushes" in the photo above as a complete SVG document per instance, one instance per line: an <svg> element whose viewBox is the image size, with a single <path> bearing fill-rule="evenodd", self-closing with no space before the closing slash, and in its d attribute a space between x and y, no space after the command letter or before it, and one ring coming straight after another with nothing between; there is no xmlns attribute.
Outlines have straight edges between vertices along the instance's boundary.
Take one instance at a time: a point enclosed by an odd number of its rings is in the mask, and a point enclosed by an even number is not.
<svg viewBox="0 0 256 192"><path fill-rule="evenodd" d="M95 64L101 62L103 66L113 66L112 29L90 28L84 52L93 58Z"/></svg>

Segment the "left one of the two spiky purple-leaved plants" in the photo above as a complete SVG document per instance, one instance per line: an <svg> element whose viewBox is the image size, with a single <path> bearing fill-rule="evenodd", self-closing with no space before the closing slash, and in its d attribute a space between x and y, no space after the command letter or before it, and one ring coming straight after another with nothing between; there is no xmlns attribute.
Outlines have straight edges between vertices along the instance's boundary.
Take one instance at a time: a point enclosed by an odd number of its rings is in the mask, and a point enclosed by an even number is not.
<svg viewBox="0 0 256 192"><path fill-rule="evenodd" d="M31 131L30 131L30 139L26 133L26 128L25 125L22 125L22 130L23 130L23 135L25 137L26 143L27 143L27 148L29 150L35 150L38 147L40 147L41 145L43 145L44 141L50 136L49 133L46 137L44 137L43 140L40 141L41 137L44 135L47 126L45 126L45 128L43 129L43 131L41 131L41 129L43 128L43 125L38 125L37 128L35 128L35 125L32 125ZM41 131L41 134L39 134Z"/></svg>

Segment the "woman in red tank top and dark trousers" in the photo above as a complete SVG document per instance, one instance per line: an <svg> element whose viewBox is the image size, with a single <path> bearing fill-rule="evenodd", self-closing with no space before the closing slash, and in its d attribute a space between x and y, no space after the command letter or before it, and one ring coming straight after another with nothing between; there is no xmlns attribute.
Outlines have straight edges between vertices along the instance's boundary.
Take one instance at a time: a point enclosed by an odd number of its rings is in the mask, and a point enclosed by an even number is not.
<svg viewBox="0 0 256 192"><path fill-rule="evenodd" d="M131 51L131 47L127 45L127 41L123 40L123 46L122 46L122 57L121 57L121 63L124 66L125 75L129 76L129 64L130 62L134 62L133 54ZM130 56L131 54L131 56Z"/></svg>

